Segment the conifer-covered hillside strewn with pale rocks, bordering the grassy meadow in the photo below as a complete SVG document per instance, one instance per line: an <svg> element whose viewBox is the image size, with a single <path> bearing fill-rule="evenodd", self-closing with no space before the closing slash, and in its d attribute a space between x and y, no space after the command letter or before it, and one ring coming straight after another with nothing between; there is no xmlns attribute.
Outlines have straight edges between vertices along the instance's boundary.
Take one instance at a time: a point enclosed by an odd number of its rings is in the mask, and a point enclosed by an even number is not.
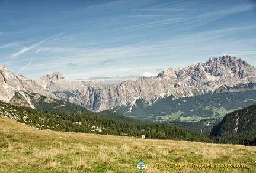
<svg viewBox="0 0 256 173"><path fill-rule="evenodd" d="M213 142L206 135L165 124L137 124L92 113L65 113L16 107L0 102L0 113L41 130L126 135L153 139Z"/></svg>

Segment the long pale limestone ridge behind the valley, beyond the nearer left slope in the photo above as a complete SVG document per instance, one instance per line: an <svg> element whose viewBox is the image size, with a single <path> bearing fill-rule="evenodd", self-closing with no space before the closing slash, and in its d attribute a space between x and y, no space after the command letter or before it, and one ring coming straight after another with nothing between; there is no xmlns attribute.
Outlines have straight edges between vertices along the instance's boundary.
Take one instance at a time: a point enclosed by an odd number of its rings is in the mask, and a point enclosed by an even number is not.
<svg viewBox="0 0 256 173"><path fill-rule="evenodd" d="M50 76L50 77L49 77ZM169 68L157 77L123 81L121 84L68 81L61 74L48 74L37 84L49 89L62 100L100 111L129 105L137 99L147 105L168 97L188 97L206 93L236 92L255 89L256 68L236 57L211 58L206 63Z"/></svg>

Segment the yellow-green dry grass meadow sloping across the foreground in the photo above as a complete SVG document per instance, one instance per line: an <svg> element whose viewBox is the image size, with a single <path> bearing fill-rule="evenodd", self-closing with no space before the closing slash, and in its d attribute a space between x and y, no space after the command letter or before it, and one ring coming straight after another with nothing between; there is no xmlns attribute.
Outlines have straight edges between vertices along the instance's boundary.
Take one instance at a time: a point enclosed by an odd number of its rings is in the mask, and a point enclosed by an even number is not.
<svg viewBox="0 0 256 173"><path fill-rule="evenodd" d="M0 172L254 172L255 155L252 146L43 131L0 115ZM136 168L139 161L146 163L143 171ZM158 168L156 163L185 168Z"/></svg>

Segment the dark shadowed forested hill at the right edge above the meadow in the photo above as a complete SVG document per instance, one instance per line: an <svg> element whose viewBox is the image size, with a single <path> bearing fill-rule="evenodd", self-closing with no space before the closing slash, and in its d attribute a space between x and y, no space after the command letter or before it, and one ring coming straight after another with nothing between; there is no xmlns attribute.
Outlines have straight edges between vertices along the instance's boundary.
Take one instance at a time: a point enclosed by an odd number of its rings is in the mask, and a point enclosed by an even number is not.
<svg viewBox="0 0 256 173"><path fill-rule="evenodd" d="M256 138L256 104L225 115L210 135L232 140Z"/></svg>

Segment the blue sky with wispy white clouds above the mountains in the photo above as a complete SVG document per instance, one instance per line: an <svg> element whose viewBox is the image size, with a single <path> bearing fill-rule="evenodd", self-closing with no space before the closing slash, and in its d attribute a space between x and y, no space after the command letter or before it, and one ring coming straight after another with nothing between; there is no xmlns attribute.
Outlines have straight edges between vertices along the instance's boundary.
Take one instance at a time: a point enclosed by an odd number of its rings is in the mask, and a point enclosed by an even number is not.
<svg viewBox="0 0 256 173"><path fill-rule="evenodd" d="M223 54L256 66L256 1L0 0L0 64L121 81Z"/></svg>

